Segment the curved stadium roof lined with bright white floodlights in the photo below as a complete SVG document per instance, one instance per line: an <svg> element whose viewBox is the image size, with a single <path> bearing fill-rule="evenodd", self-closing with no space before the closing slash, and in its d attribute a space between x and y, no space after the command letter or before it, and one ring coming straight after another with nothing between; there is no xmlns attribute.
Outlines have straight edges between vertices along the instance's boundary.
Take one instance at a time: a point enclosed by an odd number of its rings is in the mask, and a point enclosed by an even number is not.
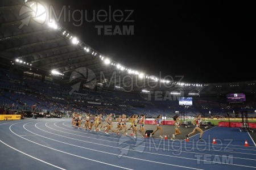
<svg viewBox="0 0 256 170"><path fill-rule="evenodd" d="M48 11L42 10L40 2L2 0L0 5L0 56L4 65L63 78L64 83L81 76L79 73L86 68L85 76L96 78L96 82L92 81L93 86L102 83L102 86L121 87L127 91L170 91L191 95L255 92L254 80L183 82L182 76L172 78L143 73L106 57L60 23L49 22L45 16Z"/></svg>

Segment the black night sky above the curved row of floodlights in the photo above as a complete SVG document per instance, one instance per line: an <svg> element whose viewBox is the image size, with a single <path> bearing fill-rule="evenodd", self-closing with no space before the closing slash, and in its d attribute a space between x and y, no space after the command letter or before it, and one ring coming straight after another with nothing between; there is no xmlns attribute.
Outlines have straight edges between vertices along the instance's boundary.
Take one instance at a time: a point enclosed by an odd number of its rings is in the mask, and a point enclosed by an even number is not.
<svg viewBox="0 0 256 170"><path fill-rule="evenodd" d="M47 1L44 1L47 2ZM187 82L256 80L255 10L249 2L222 1L48 1L82 11L82 24L63 22L69 31L116 62L147 74L184 75ZM68 8L68 6L70 6ZM98 22L97 12L133 10L133 22ZM95 22L92 19L96 12ZM85 16L86 15L86 16ZM87 18L86 18L87 17ZM79 12L75 18L81 18ZM109 14L108 14L109 19ZM134 25L134 35L98 35L96 25ZM114 31L114 30L113 30ZM112 31L112 32L113 32Z"/></svg>

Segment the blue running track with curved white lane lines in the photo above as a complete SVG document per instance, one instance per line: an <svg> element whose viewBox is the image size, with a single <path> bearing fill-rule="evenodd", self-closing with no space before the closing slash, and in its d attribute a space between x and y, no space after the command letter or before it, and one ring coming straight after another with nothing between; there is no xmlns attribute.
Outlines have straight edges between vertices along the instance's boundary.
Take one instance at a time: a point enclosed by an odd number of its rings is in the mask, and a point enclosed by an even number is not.
<svg viewBox="0 0 256 170"><path fill-rule="evenodd" d="M1 169L256 169L255 144L236 128L209 129L204 142L106 135L53 118L1 121L0 130Z"/></svg>

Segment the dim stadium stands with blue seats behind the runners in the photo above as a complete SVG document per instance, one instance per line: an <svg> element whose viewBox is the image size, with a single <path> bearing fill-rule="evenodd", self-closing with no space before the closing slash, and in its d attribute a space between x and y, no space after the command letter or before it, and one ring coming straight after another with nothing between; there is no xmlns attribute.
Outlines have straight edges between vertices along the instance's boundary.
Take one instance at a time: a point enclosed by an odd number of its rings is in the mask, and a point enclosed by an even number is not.
<svg viewBox="0 0 256 170"><path fill-rule="evenodd" d="M184 108L177 100L146 100L145 95L108 90L86 90L69 94L70 86L42 81L32 76L17 75L0 69L0 114L3 111L53 113L70 116L73 112L92 114L158 114L174 116L179 111L188 116L207 113L207 117L220 116L225 103L217 99L193 98L193 105ZM255 108L255 103L250 104ZM176 112L175 112L176 111Z"/></svg>

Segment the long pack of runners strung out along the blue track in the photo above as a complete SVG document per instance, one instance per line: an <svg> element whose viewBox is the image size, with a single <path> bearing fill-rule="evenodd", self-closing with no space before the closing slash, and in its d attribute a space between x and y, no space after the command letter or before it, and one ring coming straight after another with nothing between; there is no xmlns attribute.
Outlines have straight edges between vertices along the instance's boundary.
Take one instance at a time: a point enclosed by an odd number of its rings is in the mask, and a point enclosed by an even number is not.
<svg viewBox="0 0 256 170"><path fill-rule="evenodd" d="M181 132L179 130L179 126L181 125L181 122L179 120L179 116L174 116L174 134L172 134L171 140L174 141L175 137L177 135L180 135ZM144 138L144 120L145 116L144 114L141 114L138 116L137 114L134 114L133 116L130 117L130 128L127 129L127 118L125 114L120 115L118 118L115 119L117 121L117 127L113 129L113 114L110 113L108 116L106 116L106 125L103 126L103 116L102 114L96 114L95 116L93 114L86 114L84 116L85 123L82 125L82 114L78 113L73 113L72 114L72 122L71 124L77 128L85 128L85 130L90 130L92 131L93 126L94 126L94 131L101 131L102 127L105 130L106 134L109 134L109 130L111 130L113 133L120 134L120 131L122 130L123 135L127 135L127 130L132 130L131 135L134 136L134 138L137 138L138 132L141 134L141 138ZM194 120L192 120L192 124L195 125L196 127L191 131L191 133L186 135L186 138L188 138L190 135L196 133L196 131L200 132L200 138L199 140L202 141L201 137L204 133L204 131L200 128L200 121L201 121L201 116L198 115ZM147 135L154 135L156 131L160 130L160 138L163 138L163 128L161 126L162 124L162 116L159 114L158 117L155 119L156 122L156 129Z"/></svg>

